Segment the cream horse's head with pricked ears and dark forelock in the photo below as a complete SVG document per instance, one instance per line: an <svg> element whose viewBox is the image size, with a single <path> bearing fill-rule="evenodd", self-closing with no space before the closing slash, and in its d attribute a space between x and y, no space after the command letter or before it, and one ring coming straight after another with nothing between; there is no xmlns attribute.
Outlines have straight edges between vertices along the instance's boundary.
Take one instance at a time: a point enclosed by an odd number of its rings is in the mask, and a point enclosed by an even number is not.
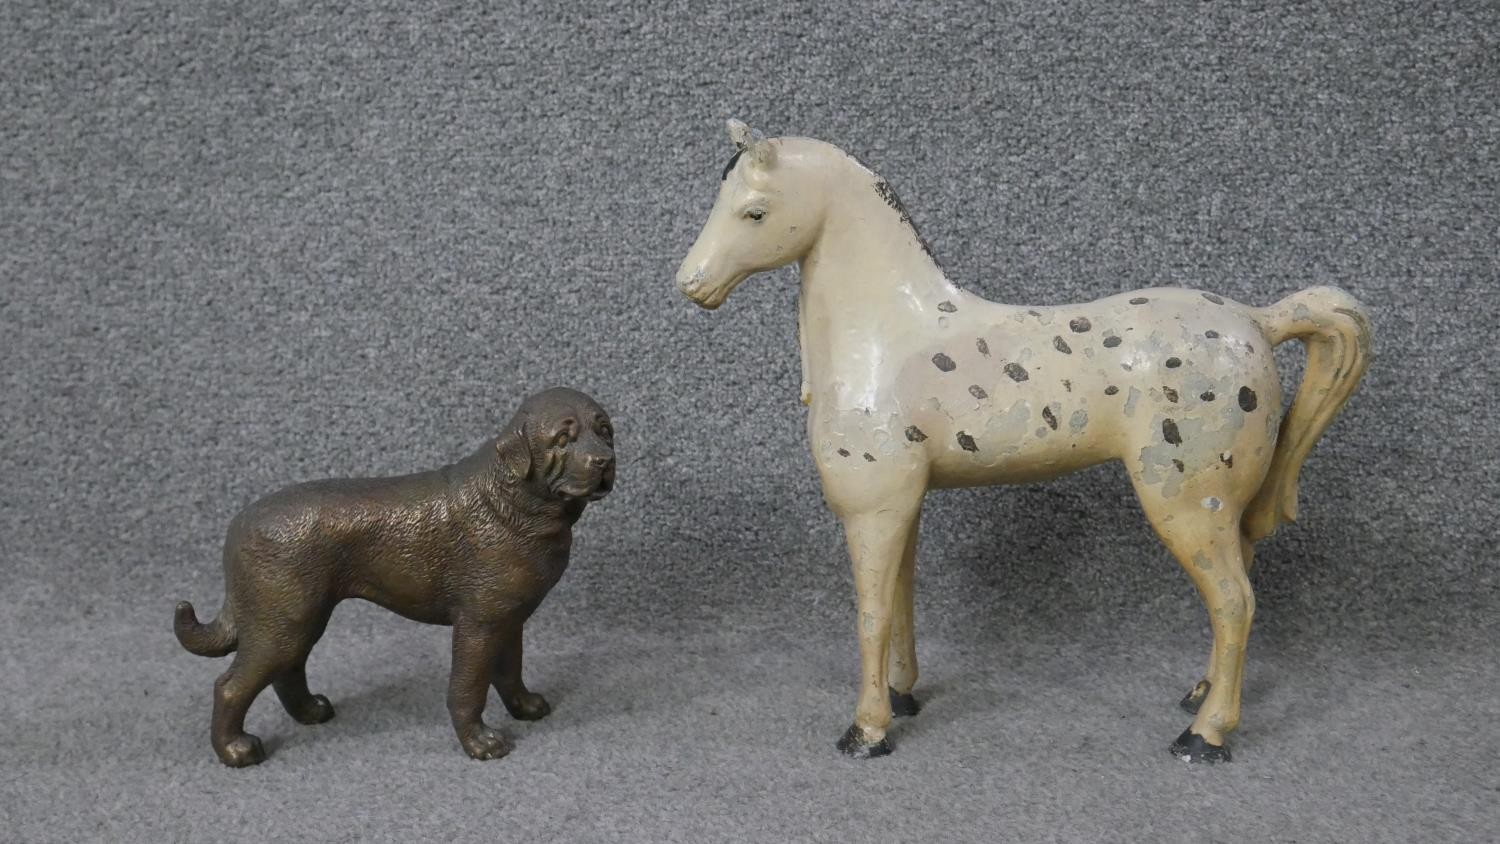
<svg viewBox="0 0 1500 844"><path fill-rule="evenodd" d="M676 271L676 286L714 309L754 273L800 259L818 240L824 219L819 181L801 168L795 144L760 138L729 121L735 156L724 166L718 199L698 243Z"/></svg>

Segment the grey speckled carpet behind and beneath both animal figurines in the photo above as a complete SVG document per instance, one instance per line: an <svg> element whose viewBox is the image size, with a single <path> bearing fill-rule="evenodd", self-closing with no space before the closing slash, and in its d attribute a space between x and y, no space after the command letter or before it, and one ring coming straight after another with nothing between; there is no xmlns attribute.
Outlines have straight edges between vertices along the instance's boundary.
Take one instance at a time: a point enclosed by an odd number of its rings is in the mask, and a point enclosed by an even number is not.
<svg viewBox="0 0 1500 844"><path fill-rule="evenodd" d="M992 298L1370 304L1257 555L1233 765L1166 753L1208 631L1112 468L933 496L927 709L832 751L795 276L670 283L729 115L858 153ZM1492 3L4 3L0 838L1500 838L1497 145ZM168 628L232 513L558 382L624 462L530 628L554 717L471 763L446 631L350 606L310 666L339 717L261 700L270 763L219 768L219 666Z"/></svg>

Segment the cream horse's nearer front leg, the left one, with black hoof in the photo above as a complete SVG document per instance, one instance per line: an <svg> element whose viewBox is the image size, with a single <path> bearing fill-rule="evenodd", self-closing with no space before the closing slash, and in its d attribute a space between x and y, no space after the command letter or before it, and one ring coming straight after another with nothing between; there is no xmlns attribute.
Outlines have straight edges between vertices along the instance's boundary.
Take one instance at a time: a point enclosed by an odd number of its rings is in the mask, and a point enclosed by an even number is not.
<svg viewBox="0 0 1500 844"><path fill-rule="evenodd" d="M891 753L891 744L885 736L886 727L891 726L888 679L891 622L908 540L916 529L920 501L921 496L916 495L915 501L902 505L842 514L860 604L861 682L854 724L838 739L838 750L855 759Z"/></svg>

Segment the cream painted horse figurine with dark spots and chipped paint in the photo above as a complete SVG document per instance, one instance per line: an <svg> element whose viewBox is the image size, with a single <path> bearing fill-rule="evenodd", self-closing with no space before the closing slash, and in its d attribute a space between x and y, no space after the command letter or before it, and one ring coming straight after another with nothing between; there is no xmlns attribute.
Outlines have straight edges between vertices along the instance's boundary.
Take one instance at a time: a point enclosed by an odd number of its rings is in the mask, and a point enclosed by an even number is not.
<svg viewBox="0 0 1500 844"><path fill-rule="evenodd" d="M1011 306L954 286L891 186L843 150L729 121L735 154L678 288L716 309L754 273L798 262L807 433L844 529L862 682L837 747L891 753L916 714L912 571L922 496L1119 460L1209 610L1208 673L1172 744L1227 762L1256 598L1254 544L1296 519L1298 472L1370 363L1365 309L1336 288L1270 307L1152 288ZM1306 346L1282 418L1272 354Z"/></svg>

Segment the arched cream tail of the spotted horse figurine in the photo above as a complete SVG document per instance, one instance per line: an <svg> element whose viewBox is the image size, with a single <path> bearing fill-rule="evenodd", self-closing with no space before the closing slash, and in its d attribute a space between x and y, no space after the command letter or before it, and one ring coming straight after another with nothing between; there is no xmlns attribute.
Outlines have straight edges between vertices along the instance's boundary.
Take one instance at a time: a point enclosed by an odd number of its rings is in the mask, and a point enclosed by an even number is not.
<svg viewBox="0 0 1500 844"><path fill-rule="evenodd" d="M1306 369L1292 409L1281 420L1276 450L1260 492L1245 510L1242 531L1251 541L1298 519L1298 472L1312 445L1348 402L1370 366L1370 313L1338 288L1310 288L1256 315L1272 345L1290 339L1306 346Z"/></svg>

